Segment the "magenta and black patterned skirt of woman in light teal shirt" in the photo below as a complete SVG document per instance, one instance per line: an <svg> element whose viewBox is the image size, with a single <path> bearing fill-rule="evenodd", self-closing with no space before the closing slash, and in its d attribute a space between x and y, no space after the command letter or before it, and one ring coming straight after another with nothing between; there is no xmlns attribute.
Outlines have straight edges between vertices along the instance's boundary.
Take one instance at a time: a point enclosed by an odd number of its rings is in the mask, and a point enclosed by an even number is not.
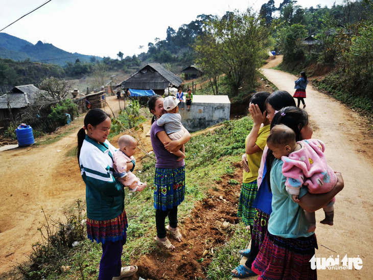
<svg viewBox="0 0 373 280"><path fill-rule="evenodd" d="M311 269L310 260L317 248L316 236L282 238L269 232L263 241L251 269L265 280L314 280L316 269Z"/></svg>

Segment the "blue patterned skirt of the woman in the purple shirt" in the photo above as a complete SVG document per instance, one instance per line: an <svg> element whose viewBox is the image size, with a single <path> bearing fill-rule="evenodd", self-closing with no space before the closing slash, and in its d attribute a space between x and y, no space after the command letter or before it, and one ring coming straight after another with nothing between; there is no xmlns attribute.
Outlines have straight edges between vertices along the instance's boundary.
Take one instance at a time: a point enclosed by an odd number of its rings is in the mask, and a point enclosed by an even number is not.
<svg viewBox="0 0 373 280"><path fill-rule="evenodd" d="M154 208L162 211L180 205L185 195L185 167L156 168L154 176Z"/></svg>

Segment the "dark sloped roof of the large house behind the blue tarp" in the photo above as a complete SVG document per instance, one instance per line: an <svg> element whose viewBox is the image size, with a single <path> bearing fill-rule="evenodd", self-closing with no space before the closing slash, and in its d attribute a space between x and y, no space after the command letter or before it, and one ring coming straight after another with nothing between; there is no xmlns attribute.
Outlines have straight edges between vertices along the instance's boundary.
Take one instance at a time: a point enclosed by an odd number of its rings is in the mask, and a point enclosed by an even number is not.
<svg viewBox="0 0 373 280"><path fill-rule="evenodd" d="M121 83L122 88L165 89L183 81L159 63L150 63Z"/></svg>

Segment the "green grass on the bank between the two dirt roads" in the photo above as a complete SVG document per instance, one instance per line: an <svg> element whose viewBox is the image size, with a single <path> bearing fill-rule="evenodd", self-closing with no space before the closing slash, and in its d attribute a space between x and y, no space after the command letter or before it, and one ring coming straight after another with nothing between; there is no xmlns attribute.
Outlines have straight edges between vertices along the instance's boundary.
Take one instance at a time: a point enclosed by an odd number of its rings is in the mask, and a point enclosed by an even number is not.
<svg viewBox="0 0 373 280"><path fill-rule="evenodd" d="M179 207L180 219L190 216L194 203L208 196L210 188L216 188L212 182L221 182L225 174L233 174L234 162L241 160L244 153L244 140L252 127L248 117L240 120L227 121L217 128L215 133L200 134L192 137L185 145L187 156L185 158L185 200ZM71 156L73 149L66 153ZM143 168L137 176L141 181L148 182L148 188L143 192L125 192L125 207L128 217L128 242L123 250L123 263L131 263L143 254L161 250L153 241L156 235L155 211L153 207L153 183L155 161L144 159ZM231 184L238 183L231 179ZM46 213L48 215L48 213ZM214 260L208 268L208 279L228 279L229 271L239 262L238 249L243 248L249 234L243 223L232 225L235 231L232 238L215 249ZM101 259L101 245L89 240L82 241L78 246L70 249L63 258L63 265L71 266L70 270L50 269L49 274L34 275L34 278L20 277L18 279L96 279ZM54 271L54 272L53 272ZM11 272L10 272L11 273ZM5 274L0 275L0 280L7 279ZM37 278L38 276L39 278Z"/></svg>

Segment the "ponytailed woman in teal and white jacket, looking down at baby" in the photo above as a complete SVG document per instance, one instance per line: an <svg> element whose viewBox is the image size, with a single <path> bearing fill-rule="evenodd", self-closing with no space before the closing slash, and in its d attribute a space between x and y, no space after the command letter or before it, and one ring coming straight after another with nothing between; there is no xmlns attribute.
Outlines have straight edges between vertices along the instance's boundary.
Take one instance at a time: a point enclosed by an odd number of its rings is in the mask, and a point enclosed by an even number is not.
<svg viewBox="0 0 373 280"><path fill-rule="evenodd" d="M111 120L101 109L88 111L78 132L78 158L86 185L87 234L102 243L99 280L119 280L137 271L122 267L121 256L128 227L124 187L113 177L115 148L107 141ZM85 133L85 130L87 133Z"/></svg>

